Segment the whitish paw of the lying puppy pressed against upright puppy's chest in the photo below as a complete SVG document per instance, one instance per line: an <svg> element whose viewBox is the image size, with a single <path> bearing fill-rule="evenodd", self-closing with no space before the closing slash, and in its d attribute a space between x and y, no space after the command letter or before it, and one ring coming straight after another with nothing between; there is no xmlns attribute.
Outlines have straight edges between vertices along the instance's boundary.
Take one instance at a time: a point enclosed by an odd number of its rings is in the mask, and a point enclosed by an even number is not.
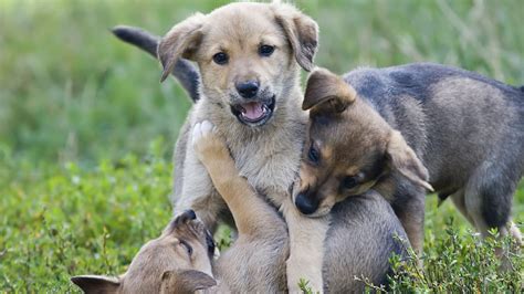
<svg viewBox="0 0 524 294"><path fill-rule="evenodd" d="M227 149L217 134L217 127L209 120L195 124L191 143L200 160L205 160L208 155L219 154Z"/></svg>

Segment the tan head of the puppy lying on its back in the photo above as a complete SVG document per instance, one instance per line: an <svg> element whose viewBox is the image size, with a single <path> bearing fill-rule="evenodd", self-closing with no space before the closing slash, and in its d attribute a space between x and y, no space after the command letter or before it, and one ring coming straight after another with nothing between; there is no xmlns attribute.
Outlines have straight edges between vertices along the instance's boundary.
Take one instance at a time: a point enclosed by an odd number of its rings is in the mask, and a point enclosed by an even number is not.
<svg viewBox="0 0 524 294"><path fill-rule="evenodd" d="M188 210L146 243L120 277L80 275L71 281L85 293L193 293L217 284L211 272L213 252L208 230Z"/></svg>

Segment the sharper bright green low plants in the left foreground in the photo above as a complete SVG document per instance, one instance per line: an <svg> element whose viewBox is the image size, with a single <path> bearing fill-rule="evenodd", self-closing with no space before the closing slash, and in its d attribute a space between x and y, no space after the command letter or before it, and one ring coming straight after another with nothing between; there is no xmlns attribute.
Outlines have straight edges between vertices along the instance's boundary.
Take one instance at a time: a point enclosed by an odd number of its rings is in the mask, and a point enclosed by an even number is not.
<svg viewBox="0 0 524 294"><path fill-rule="evenodd" d="M63 293L71 275L122 273L170 217L161 158L34 171L2 154L0 171L11 170L19 176L0 186L0 292Z"/></svg>

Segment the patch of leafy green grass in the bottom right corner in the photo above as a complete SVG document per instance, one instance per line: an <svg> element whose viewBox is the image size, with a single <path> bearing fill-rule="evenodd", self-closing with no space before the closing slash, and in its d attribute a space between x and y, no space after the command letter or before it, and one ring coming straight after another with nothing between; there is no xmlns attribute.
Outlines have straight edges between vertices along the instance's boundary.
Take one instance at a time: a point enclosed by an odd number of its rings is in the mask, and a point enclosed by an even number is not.
<svg viewBox="0 0 524 294"><path fill-rule="evenodd" d="M390 259L394 274L390 276L390 291L436 292L436 293L518 293L524 286L524 259L522 253L513 253L514 240L511 237L482 240L478 234L460 234L453 218L450 218L444 233L437 240L425 244L422 260L425 270L418 266L416 255ZM506 253L497 258L496 250ZM513 250L513 251L512 251ZM502 262L504 261L504 262ZM504 266L505 271L501 271Z"/></svg>

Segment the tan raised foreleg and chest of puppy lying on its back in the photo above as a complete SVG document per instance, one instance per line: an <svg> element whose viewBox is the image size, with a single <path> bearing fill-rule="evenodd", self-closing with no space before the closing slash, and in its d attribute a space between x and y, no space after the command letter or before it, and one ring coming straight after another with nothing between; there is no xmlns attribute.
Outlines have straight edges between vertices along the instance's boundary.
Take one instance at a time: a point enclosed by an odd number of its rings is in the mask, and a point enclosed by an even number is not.
<svg viewBox="0 0 524 294"><path fill-rule="evenodd" d="M207 124L193 127L192 145L231 210L239 232L232 246L217 261L217 275L232 292L283 292L286 290L284 266L289 255L285 223L247 179L239 176L217 129L209 132Z"/></svg>

